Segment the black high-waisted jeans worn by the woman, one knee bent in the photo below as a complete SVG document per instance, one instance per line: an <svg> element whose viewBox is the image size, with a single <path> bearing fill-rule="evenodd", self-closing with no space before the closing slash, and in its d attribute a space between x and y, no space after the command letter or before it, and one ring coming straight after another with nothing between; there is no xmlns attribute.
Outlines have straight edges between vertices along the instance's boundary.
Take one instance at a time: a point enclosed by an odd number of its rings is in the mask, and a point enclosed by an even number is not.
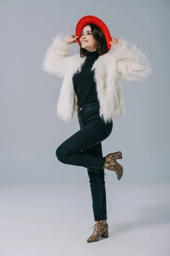
<svg viewBox="0 0 170 256"><path fill-rule="evenodd" d="M99 116L98 102L79 106L77 116L80 130L59 145L56 156L62 163L87 168L94 221L99 221L107 219L103 169L105 157L102 155L101 142L111 134L113 121L105 124Z"/></svg>

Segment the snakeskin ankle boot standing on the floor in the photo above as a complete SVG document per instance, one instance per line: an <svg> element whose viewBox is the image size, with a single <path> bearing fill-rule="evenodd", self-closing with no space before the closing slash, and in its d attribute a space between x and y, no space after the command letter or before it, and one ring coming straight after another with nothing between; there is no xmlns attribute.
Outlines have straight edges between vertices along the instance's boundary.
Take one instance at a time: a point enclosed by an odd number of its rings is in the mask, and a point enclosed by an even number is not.
<svg viewBox="0 0 170 256"><path fill-rule="evenodd" d="M96 221L94 232L87 239L88 243L99 241L100 237L108 237L108 223L106 220Z"/></svg>

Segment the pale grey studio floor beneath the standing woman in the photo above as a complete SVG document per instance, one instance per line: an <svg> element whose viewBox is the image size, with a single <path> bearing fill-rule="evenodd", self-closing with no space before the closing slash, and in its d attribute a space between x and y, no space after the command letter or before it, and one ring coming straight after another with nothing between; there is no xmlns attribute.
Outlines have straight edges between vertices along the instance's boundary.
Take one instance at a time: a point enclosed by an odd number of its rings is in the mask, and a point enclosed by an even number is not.
<svg viewBox="0 0 170 256"><path fill-rule="evenodd" d="M115 181L107 189L109 238L94 225L88 184L0 189L0 256L169 256L170 187Z"/></svg>

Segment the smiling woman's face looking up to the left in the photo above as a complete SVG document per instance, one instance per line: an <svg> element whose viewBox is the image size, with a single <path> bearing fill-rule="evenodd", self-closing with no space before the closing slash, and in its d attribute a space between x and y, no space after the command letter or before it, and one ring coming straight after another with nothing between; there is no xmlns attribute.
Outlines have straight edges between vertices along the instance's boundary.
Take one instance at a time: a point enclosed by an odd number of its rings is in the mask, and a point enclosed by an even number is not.
<svg viewBox="0 0 170 256"><path fill-rule="evenodd" d="M86 49L88 52L96 51L97 43L91 34L91 27L89 25L84 27L80 36L80 42L82 44L82 48Z"/></svg>

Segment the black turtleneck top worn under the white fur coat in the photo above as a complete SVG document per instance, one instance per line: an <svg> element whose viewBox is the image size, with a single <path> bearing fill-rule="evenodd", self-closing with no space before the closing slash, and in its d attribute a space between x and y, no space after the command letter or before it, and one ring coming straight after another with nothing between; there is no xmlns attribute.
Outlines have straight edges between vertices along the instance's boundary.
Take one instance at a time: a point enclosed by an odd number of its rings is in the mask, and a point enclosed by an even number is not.
<svg viewBox="0 0 170 256"><path fill-rule="evenodd" d="M73 76L74 90L77 94L77 105L83 106L93 102L99 102L97 99L96 82L94 81L94 70L91 68L99 58L97 51L88 52L86 50L86 60L79 71Z"/></svg>

